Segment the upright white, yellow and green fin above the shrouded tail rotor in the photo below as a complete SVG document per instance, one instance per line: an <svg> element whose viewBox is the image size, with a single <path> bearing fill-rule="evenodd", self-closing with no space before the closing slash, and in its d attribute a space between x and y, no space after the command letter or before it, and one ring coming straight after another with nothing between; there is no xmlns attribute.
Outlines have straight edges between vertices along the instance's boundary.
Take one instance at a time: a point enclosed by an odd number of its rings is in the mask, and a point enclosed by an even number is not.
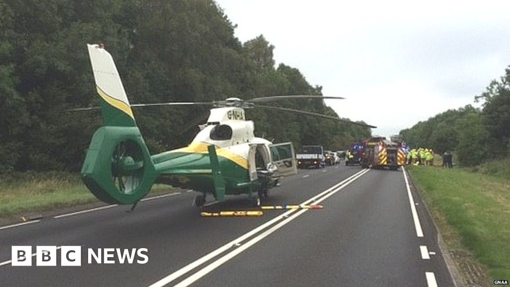
<svg viewBox="0 0 510 287"><path fill-rule="evenodd" d="M102 44L87 44L105 126L136 127L135 117L112 56Z"/></svg>

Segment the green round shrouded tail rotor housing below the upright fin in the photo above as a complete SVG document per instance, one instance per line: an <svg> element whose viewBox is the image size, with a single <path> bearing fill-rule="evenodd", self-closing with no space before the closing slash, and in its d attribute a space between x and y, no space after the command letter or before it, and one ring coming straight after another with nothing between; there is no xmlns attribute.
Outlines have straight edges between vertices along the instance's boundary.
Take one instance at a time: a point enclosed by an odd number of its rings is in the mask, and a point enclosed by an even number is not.
<svg viewBox="0 0 510 287"><path fill-rule="evenodd" d="M82 168L85 185L99 200L134 204L157 173L137 127L101 127L92 137Z"/></svg>

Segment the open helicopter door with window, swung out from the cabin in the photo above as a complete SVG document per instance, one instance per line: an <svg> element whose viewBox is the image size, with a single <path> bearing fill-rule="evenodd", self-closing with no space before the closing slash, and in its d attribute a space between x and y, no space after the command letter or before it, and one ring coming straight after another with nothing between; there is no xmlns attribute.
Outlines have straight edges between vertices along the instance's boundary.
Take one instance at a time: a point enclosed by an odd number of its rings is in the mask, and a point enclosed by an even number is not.
<svg viewBox="0 0 510 287"><path fill-rule="evenodd" d="M276 166L275 176L288 176L297 173L297 161L292 142L269 145L271 161Z"/></svg>

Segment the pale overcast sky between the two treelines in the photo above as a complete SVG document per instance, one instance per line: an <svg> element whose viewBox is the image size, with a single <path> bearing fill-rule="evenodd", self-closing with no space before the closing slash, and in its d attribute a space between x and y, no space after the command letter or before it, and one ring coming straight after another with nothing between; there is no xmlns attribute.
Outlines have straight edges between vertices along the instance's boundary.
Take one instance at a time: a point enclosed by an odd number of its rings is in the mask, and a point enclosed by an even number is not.
<svg viewBox="0 0 510 287"><path fill-rule="evenodd" d="M217 0L245 42L263 34L341 117L390 135L473 104L510 64L510 1ZM476 105L475 105L476 106Z"/></svg>

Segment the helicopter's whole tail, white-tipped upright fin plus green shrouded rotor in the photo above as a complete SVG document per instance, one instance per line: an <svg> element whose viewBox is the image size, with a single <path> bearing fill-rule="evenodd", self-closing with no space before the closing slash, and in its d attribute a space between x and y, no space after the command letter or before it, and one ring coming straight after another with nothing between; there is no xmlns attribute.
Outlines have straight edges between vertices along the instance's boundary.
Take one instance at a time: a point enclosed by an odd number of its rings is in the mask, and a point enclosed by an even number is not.
<svg viewBox="0 0 510 287"><path fill-rule="evenodd" d="M136 204L154 184L158 173L136 126L112 56L102 45L88 45L103 127L90 141L82 180L99 200Z"/></svg>

